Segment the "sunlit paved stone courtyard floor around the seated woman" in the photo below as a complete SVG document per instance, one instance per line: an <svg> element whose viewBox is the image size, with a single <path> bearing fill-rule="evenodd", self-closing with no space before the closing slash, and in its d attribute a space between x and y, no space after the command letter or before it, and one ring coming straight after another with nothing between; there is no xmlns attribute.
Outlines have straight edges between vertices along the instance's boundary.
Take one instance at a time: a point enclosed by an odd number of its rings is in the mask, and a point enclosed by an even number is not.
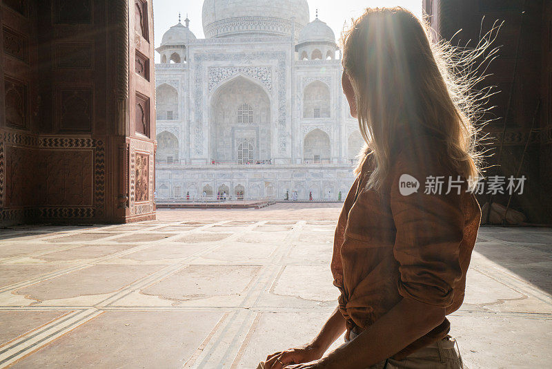
<svg viewBox="0 0 552 369"><path fill-rule="evenodd" d="M277 204L0 229L0 367L255 368L335 308L338 214ZM551 368L552 229L484 227L475 250L450 316L464 361Z"/></svg>

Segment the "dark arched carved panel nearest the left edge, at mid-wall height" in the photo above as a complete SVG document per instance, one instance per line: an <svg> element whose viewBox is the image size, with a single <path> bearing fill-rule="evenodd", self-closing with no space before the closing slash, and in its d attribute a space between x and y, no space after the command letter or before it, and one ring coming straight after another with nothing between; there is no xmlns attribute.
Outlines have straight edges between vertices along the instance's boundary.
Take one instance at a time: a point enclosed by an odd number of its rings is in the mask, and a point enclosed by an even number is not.
<svg viewBox="0 0 552 369"><path fill-rule="evenodd" d="M6 124L20 129L28 126L28 86L27 84L4 77L4 104L6 104Z"/></svg>

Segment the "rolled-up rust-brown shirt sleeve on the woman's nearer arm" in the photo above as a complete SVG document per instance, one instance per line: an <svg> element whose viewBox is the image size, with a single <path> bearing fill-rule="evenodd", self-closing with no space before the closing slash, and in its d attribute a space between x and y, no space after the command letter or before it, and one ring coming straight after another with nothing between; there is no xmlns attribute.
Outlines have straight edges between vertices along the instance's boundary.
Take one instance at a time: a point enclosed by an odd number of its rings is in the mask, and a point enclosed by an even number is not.
<svg viewBox="0 0 552 369"><path fill-rule="evenodd" d="M400 295L446 308L453 301L455 282L462 278L459 253L464 232L461 200L465 187L446 194L449 176L453 175L433 168L421 169L402 161L392 171L391 212L396 227L393 254L400 265L397 282ZM420 182L416 192L404 193L407 187L403 181L401 193L404 174ZM425 193L428 176L444 176L441 193Z"/></svg>

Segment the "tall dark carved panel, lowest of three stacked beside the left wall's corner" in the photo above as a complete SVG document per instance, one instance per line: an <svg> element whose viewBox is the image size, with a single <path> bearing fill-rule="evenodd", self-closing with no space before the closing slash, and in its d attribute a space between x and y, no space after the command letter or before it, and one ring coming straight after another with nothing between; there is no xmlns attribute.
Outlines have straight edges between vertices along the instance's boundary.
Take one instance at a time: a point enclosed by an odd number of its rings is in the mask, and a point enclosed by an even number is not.
<svg viewBox="0 0 552 369"><path fill-rule="evenodd" d="M58 87L56 125L59 132L90 132L94 99L92 86Z"/></svg>

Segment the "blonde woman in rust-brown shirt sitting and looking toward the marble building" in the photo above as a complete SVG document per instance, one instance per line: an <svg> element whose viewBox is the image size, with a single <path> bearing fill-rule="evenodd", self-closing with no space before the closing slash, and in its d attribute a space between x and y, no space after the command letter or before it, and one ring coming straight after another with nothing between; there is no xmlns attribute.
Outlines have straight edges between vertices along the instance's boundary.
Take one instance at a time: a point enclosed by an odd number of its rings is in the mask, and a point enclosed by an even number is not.
<svg viewBox="0 0 552 369"><path fill-rule="evenodd" d="M462 305L481 218L466 86L402 8L367 9L342 63L366 149L335 231L339 304L311 343L265 368L462 368L446 315Z"/></svg>

